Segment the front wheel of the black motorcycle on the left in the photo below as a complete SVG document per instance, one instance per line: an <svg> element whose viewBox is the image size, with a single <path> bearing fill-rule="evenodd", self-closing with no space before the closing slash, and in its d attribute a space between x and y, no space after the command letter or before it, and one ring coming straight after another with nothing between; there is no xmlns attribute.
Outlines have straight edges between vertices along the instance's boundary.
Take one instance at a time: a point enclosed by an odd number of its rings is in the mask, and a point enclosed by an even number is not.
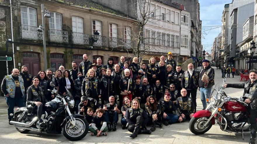
<svg viewBox="0 0 257 144"><path fill-rule="evenodd" d="M88 132L88 122L84 118L75 118L76 127L72 127L70 120L62 127L62 134L71 141L84 138Z"/></svg>

